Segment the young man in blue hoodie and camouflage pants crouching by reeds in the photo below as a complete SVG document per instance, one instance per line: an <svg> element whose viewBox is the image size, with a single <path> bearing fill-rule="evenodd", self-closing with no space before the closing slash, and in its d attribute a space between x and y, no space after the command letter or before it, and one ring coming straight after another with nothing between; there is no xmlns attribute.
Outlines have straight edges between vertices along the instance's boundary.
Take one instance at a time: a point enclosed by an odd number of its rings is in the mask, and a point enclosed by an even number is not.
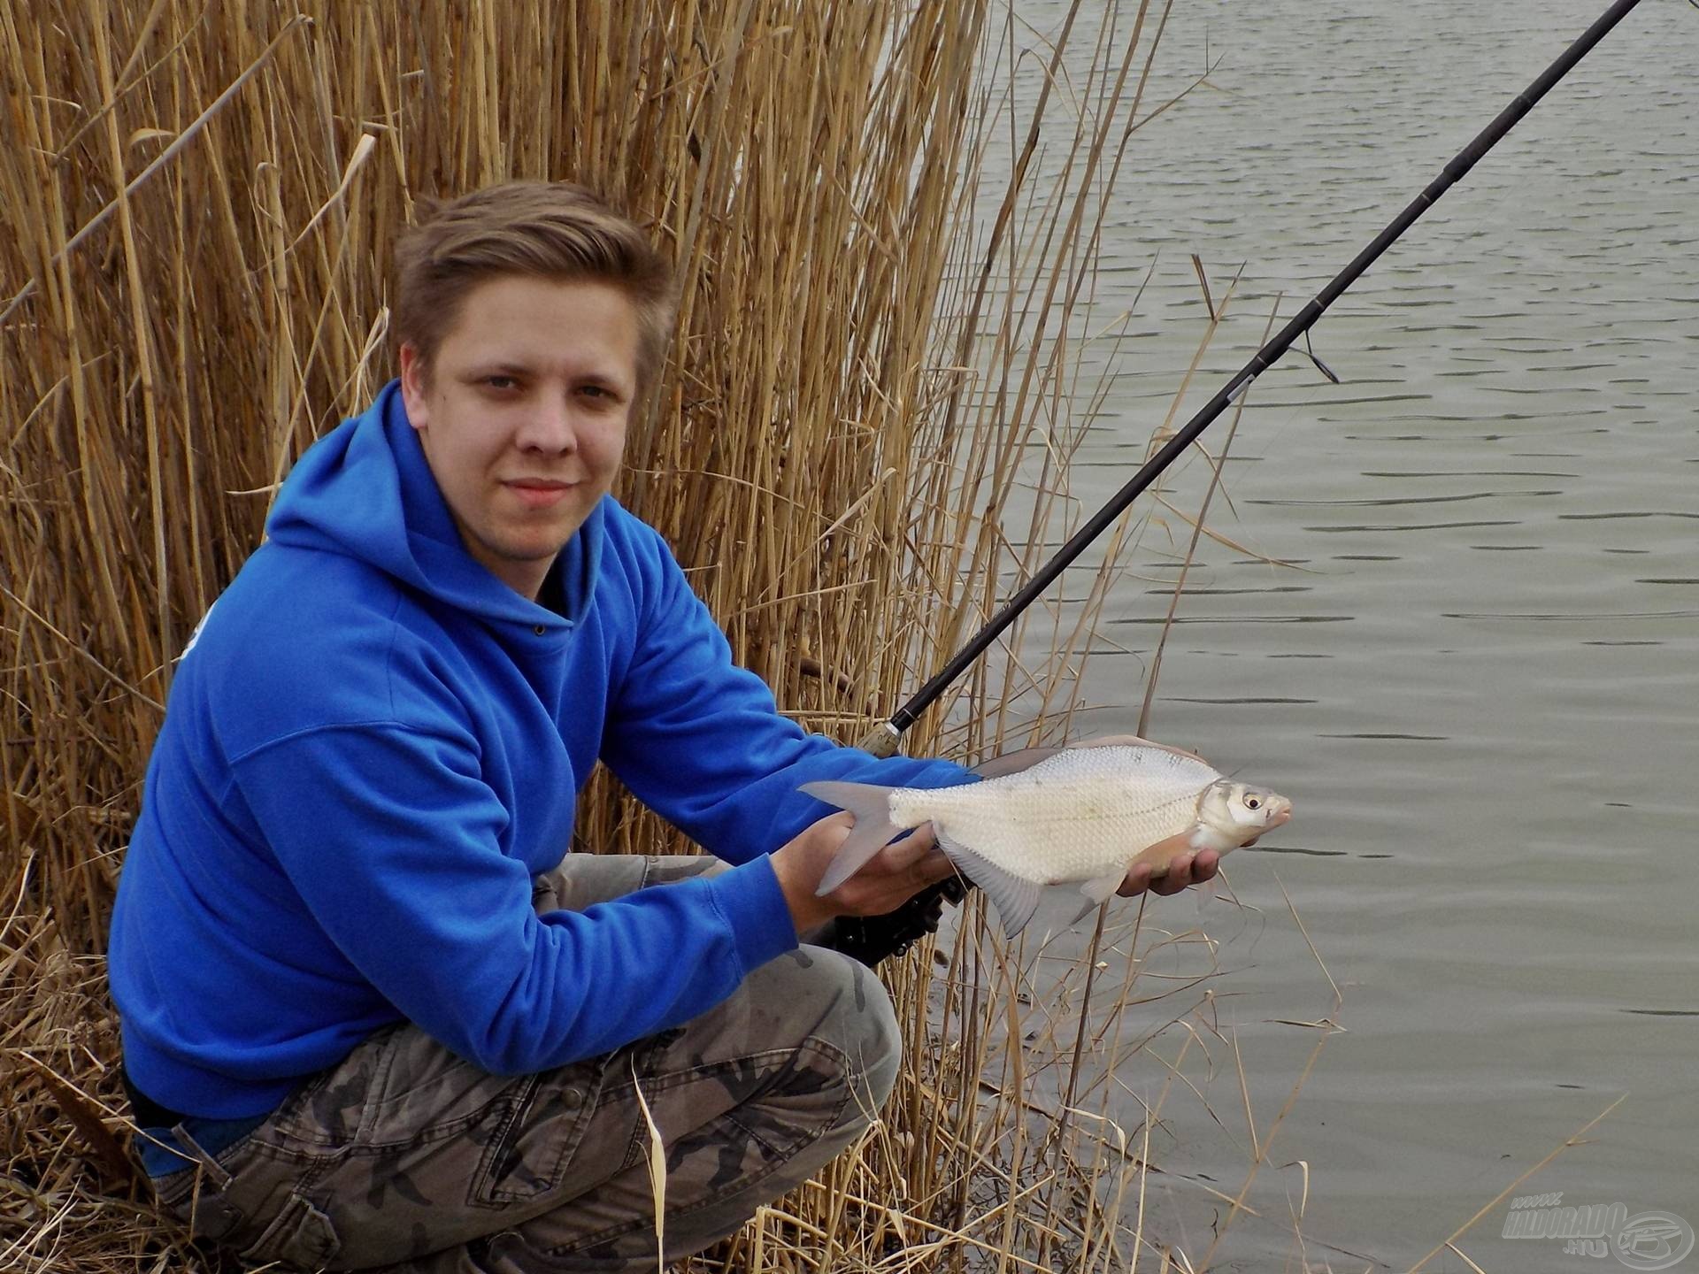
<svg viewBox="0 0 1699 1274"><path fill-rule="evenodd" d="M172 686L110 944L143 1157L255 1262L652 1269L639 1089L675 1257L895 1079L877 978L799 934L948 863L917 832L816 897L848 819L797 786L967 773L778 715L608 496L673 319L630 221L493 187L398 273L401 379L294 467ZM714 858L562 860L598 758Z"/></svg>

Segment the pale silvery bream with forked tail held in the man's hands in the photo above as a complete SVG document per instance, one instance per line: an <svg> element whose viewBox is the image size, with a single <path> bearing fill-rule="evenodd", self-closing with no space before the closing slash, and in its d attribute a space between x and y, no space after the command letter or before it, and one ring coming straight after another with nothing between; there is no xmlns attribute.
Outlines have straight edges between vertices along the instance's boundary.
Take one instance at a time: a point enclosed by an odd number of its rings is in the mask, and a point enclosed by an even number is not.
<svg viewBox="0 0 1699 1274"><path fill-rule="evenodd" d="M802 792L856 817L821 893L902 831L929 822L957 871L996 904L1009 938L1026 927L1045 885L1077 882L1087 899L1084 917L1135 863L1150 863L1155 880L1183 853L1227 853L1291 817L1286 797L1143 739L1067 747L1019 773L965 786L817 781Z"/></svg>

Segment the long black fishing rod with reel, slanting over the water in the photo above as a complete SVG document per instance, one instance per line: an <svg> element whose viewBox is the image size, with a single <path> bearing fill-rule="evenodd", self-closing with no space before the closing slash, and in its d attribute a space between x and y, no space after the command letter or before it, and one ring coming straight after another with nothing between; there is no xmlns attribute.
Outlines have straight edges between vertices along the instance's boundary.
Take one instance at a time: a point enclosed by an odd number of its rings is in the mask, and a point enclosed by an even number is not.
<svg viewBox="0 0 1699 1274"><path fill-rule="evenodd" d="M1293 343L1308 333L1315 321L1327 313L1346 289L1351 287L1363 273L1380 258L1386 248L1398 241L1398 238L1415 224L1429 207L1439 202L1439 197L1446 194L1453 185L1456 185L1463 177L1473 168L1487 151L1499 144L1505 132L1509 132L1517 121L1522 119L1534 104L1544 97L1553 85L1558 83L1565 75L1568 75L1575 63L1585 58L1592 48L1609 34L1609 31L1628 17L1629 10L1638 5L1640 0L1616 0L1597 22L1587 27L1582 36L1570 44L1556 61L1553 61L1544 71L1541 71L1534 82L1517 93L1510 104L1499 112L1499 116L1480 131L1480 134L1465 146L1458 155L1448 163L1439 177L1429 182L1415 199L1410 200L1408 207L1403 209L1391 223L1374 236L1374 240L1356 255L1356 258L1327 284L1315 297L1291 319L1279 333L1261 350L1252 355L1239 372L1211 397L1198 414L1194 414L1186 426L1176 433L1169 442L1152 455L1143 467L1133 474L1128 482L1115 493L1115 496L1101 510L1098 510L1092 518L1081 527L1062 549L1057 550L1055 557L1045 562L1038 572L1026 581L1019 593L1009 598L1002 610L999 610L987 623L982 627L967 645L963 645L951 659L946 662L931 681L921 686L914 696L904 703L895 715L875 725L873 730L861 739L858 747L873 756L894 756L902 742L902 734L921 713L933 705L933 702L943 695L950 685L962 676L962 673L985 652L997 637L1008 629L1014 620L1026 610L1040 593L1043 593L1058 574L1062 574L1075 557L1084 552L1084 549L1096 540L1126 508L1149 488L1164 469L1179 459L1181 452L1196 442L1198 435L1203 433L1210 423L1220 416L1227 408L1237 403L1250 384L1262 375L1269 367L1273 367L1281 355L1293 347ZM1337 382L1339 377L1334 375L1315 353L1310 353L1317 369L1329 379ZM960 902L963 895L963 885L960 880L946 880L943 885L933 885L923 890L919 895L911 899L904 907L897 909L890 916L868 917L861 921L861 926L868 929L866 944L870 950L887 948L883 955L892 951L902 951L919 938L923 933L931 933L938 926L938 912L941 905L941 897L950 897L953 902ZM929 921L929 922L928 922ZM919 927L924 926L924 927ZM848 927L848 926L846 926ZM889 939L889 946L887 946Z"/></svg>

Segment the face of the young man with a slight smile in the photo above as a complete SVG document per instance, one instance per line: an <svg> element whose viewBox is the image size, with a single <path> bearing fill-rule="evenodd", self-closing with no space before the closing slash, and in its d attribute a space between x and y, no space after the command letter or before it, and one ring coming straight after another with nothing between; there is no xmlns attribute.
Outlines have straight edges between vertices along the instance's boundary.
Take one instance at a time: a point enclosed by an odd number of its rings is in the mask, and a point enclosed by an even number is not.
<svg viewBox="0 0 1699 1274"><path fill-rule="evenodd" d="M428 384L426 384L428 381ZM613 484L637 394L637 311L601 282L474 287L401 394L467 552L528 598Z"/></svg>

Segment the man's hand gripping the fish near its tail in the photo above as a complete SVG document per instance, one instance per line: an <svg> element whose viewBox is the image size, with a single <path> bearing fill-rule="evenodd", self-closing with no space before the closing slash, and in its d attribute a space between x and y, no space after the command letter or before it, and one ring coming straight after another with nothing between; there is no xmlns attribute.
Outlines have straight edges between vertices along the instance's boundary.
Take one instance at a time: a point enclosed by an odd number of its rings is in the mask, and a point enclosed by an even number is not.
<svg viewBox="0 0 1699 1274"><path fill-rule="evenodd" d="M838 856L853 826L851 815L833 814L773 851L773 875L785 892L790 919L799 934L836 916L885 916L928 885L955 875L928 824L887 844L866 866L826 897L816 897L821 877Z"/></svg>

